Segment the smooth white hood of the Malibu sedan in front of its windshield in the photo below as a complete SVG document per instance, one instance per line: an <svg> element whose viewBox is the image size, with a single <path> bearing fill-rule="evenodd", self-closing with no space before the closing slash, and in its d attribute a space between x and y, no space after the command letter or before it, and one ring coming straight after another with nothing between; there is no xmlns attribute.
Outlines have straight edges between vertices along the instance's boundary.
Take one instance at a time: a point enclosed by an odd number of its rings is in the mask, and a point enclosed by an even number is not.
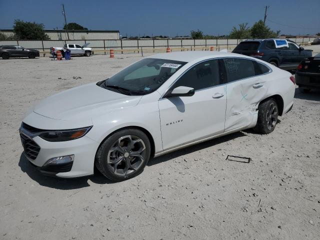
<svg viewBox="0 0 320 240"><path fill-rule="evenodd" d="M35 113L57 120L90 118L136 105L142 96L128 96L95 83L74 87L42 100Z"/></svg>

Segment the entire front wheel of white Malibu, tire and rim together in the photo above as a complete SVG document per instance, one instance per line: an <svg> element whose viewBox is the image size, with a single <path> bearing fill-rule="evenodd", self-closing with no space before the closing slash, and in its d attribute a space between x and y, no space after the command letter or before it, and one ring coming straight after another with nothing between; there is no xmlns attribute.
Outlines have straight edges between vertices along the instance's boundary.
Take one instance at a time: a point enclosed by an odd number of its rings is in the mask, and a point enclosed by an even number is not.
<svg viewBox="0 0 320 240"><path fill-rule="evenodd" d="M143 171L151 152L148 137L138 129L113 133L99 147L96 168L112 181L122 181Z"/></svg>

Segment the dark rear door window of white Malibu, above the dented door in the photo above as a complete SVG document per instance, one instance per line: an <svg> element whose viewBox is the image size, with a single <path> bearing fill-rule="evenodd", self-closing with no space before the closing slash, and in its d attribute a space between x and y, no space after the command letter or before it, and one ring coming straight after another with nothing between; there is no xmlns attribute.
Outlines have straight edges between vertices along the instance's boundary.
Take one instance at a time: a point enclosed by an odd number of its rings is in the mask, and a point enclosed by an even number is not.
<svg viewBox="0 0 320 240"><path fill-rule="evenodd" d="M227 81L235 81L255 75L254 61L243 58L224 58Z"/></svg>

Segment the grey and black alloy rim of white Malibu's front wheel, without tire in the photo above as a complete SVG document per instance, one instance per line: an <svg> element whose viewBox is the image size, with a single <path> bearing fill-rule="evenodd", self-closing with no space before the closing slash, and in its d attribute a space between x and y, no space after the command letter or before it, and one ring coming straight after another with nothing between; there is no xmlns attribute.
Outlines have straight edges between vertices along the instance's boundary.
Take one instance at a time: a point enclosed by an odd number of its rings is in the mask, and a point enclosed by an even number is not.
<svg viewBox="0 0 320 240"><path fill-rule="evenodd" d="M107 154L108 168L118 176L126 176L139 169L145 159L145 144L135 135L117 139Z"/></svg>

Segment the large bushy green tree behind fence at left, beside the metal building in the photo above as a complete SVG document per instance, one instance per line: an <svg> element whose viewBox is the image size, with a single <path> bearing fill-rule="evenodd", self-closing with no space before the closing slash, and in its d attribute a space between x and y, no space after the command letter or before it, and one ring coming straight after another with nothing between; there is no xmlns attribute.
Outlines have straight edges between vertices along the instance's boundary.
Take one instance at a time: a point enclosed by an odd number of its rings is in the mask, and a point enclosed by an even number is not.
<svg viewBox="0 0 320 240"><path fill-rule="evenodd" d="M49 40L42 23L14 20L13 32L21 40Z"/></svg>

